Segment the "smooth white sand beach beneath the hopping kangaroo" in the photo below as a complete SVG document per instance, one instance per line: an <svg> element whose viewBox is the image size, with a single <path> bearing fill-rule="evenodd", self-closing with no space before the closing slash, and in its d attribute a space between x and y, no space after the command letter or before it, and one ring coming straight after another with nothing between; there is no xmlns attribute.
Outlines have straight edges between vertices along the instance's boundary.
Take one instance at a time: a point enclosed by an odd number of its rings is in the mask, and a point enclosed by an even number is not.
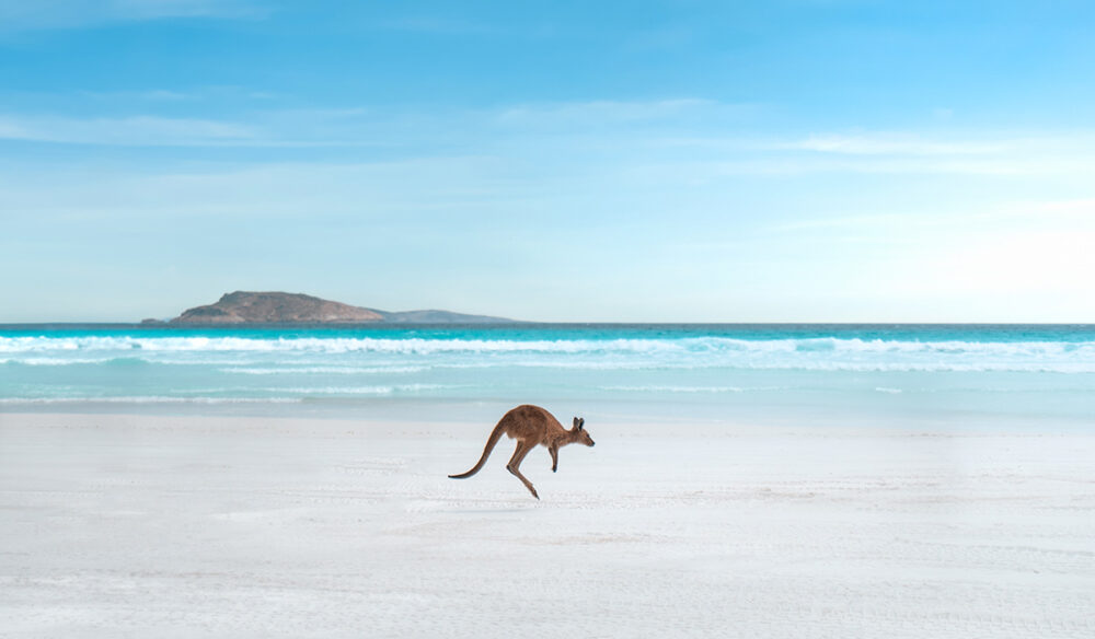
<svg viewBox="0 0 1095 639"><path fill-rule="evenodd" d="M0 414L23 637L1093 637L1095 435Z"/></svg>

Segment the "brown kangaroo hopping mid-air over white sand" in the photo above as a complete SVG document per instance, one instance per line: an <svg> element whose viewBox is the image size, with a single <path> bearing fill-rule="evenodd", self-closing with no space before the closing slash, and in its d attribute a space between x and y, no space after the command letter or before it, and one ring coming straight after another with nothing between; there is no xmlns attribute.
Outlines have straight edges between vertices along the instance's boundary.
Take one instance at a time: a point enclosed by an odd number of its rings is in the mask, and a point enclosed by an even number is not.
<svg viewBox="0 0 1095 639"><path fill-rule="evenodd" d="M537 448L537 444L545 445L548 446L548 452L551 453L552 473L558 470L560 446L573 443L583 443L587 446L593 445L593 440L586 432L586 429L583 428L585 423L585 419L575 417L574 428L566 430L555 419L554 415L543 408L529 404L518 406L503 415L502 419L498 420L498 426L494 427L494 430L491 431L491 437L486 440L486 448L483 449L483 456L480 457L475 466L466 473L449 475L449 477L452 479L466 479L479 473L483 464L486 463L486 458L491 456L491 451L494 450L494 446L502 439L503 433L505 433L510 439L517 440L517 450L514 451L514 456L506 464L506 469L520 479L521 484L525 484L525 487L529 489L532 497L540 499L540 496L537 495L537 489L532 487L532 483L526 479L525 475L521 475L521 462L525 460L525 455Z"/></svg>

